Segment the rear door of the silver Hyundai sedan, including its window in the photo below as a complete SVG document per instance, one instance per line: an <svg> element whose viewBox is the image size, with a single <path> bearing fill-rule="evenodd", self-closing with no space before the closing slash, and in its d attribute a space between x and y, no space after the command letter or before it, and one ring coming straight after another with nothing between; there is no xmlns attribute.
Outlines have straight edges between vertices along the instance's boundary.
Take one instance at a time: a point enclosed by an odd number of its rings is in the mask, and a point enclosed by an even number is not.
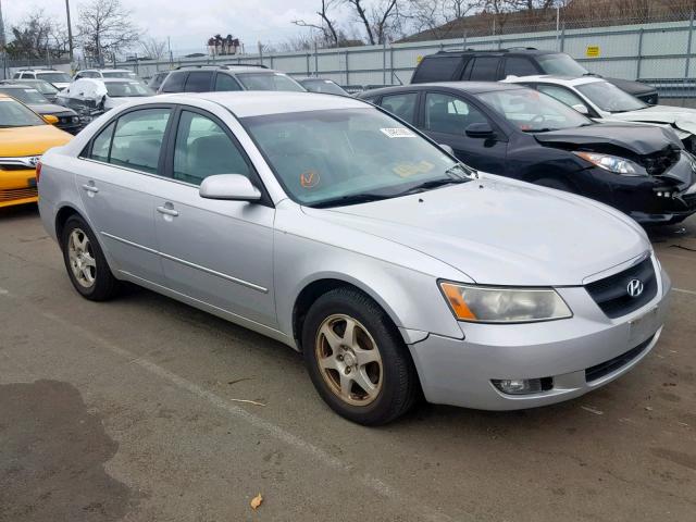
<svg viewBox="0 0 696 522"><path fill-rule="evenodd" d="M112 269L163 284L154 233L154 197L162 144L173 107L145 105L121 114L91 140L76 176L87 216ZM159 182L163 183L163 182Z"/></svg>

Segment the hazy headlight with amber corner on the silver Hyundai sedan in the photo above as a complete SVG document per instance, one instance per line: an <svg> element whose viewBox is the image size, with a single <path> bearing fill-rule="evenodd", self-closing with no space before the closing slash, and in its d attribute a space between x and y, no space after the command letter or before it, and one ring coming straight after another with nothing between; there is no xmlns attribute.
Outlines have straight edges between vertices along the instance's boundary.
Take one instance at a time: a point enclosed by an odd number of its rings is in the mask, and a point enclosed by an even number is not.
<svg viewBox="0 0 696 522"><path fill-rule="evenodd" d="M460 321L531 323L573 315L552 288L493 288L445 282L439 287Z"/></svg>

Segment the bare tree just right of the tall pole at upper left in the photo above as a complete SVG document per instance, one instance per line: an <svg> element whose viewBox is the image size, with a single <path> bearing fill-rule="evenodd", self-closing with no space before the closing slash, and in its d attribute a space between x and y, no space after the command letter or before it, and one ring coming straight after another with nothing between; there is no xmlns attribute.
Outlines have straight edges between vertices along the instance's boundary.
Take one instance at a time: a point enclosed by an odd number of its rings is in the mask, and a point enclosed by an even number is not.
<svg viewBox="0 0 696 522"><path fill-rule="evenodd" d="M130 11L121 5L121 0L90 0L79 12L77 29L83 51L100 64L105 57L115 59L140 38Z"/></svg>

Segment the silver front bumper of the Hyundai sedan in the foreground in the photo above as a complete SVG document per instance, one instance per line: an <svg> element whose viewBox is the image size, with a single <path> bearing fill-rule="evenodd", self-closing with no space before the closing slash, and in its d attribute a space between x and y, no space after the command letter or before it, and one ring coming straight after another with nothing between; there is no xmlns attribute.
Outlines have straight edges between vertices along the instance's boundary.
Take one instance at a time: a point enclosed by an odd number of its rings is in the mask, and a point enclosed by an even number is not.
<svg viewBox="0 0 696 522"><path fill-rule="evenodd" d="M626 373L652 349L667 314L671 283L654 265L660 274L656 297L619 319L607 318L584 287L567 287L558 291L573 310L571 319L461 323L464 339L431 334L409 345L426 400L483 410L534 408L579 397ZM506 395L492 384L543 377L551 377L552 387L531 395Z"/></svg>

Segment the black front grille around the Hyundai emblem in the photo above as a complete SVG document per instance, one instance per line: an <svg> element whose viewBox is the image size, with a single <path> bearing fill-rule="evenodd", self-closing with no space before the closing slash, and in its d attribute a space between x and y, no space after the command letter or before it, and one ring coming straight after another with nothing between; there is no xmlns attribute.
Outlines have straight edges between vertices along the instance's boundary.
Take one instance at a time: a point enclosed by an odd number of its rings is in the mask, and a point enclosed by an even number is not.
<svg viewBox="0 0 696 522"><path fill-rule="evenodd" d="M629 283L633 279L643 282L643 293L637 297L629 295ZM652 260L647 258L623 272L585 285L585 289L608 318L614 319L631 313L647 304L657 294Z"/></svg>

